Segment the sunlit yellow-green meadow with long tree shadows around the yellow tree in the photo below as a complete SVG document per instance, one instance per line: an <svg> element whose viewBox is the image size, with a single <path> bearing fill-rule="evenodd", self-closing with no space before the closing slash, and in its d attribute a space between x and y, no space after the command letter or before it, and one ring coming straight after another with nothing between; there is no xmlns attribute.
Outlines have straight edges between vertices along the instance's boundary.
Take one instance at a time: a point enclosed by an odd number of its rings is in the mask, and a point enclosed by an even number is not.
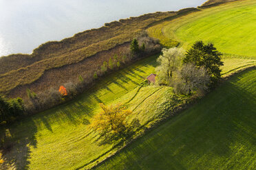
<svg viewBox="0 0 256 170"><path fill-rule="evenodd" d="M141 127L150 127L161 119L162 112L156 110L167 99L163 96L172 94L171 88L140 85L154 73L156 58L151 56L112 73L67 104L25 118L6 129L1 127L1 138L6 132L11 136L8 141L11 149L4 154L6 162L14 162L18 169L78 169L92 167L113 154L118 142L101 145L98 134L87 127L89 120L100 110L100 102L126 103L134 111L130 119L139 119Z"/></svg>

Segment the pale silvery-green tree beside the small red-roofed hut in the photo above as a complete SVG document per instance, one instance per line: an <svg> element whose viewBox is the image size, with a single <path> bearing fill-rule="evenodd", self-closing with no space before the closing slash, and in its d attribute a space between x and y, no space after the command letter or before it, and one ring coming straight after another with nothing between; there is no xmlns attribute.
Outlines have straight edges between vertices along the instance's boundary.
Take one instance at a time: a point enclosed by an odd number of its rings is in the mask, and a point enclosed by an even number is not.
<svg viewBox="0 0 256 170"><path fill-rule="evenodd" d="M159 56L157 60L160 65L156 67L158 81L168 84L173 76L173 71L176 71L181 65L183 57L182 49L176 47L172 49L162 49L162 55Z"/></svg>

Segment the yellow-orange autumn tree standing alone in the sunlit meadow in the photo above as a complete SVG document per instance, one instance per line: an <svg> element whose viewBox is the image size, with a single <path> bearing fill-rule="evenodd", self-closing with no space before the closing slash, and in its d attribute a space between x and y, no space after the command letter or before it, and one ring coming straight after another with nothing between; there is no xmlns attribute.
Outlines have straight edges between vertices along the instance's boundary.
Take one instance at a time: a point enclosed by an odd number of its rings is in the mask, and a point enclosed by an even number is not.
<svg viewBox="0 0 256 170"><path fill-rule="evenodd" d="M100 108L102 111L94 116L90 127L100 134L113 133L122 136L127 130L126 119L131 110L125 110L120 104L110 107L100 104Z"/></svg>

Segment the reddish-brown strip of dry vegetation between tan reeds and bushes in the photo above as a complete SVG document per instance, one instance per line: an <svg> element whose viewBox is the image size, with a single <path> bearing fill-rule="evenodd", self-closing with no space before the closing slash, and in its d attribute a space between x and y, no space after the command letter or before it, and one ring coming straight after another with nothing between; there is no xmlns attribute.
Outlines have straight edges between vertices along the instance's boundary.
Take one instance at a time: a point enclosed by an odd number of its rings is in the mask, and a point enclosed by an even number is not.
<svg viewBox="0 0 256 170"><path fill-rule="evenodd" d="M36 80L32 84L17 86L11 90L9 96L25 97L27 88L34 92L43 91L45 90L45 87L54 87L57 89L58 86L65 84L66 82L78 82L78 77L80 75L83 77L83 80L89 82L92 80L94 72L100 69L100 66L104 61L108 61L109 58L113 57L115 54L117 56L122 56L127 48L129 48L129 43L124 43L113 49L109 49L108 51L101 51L94 56L85 58L85 60L81 62L47 70L39 80Z"/></svg>

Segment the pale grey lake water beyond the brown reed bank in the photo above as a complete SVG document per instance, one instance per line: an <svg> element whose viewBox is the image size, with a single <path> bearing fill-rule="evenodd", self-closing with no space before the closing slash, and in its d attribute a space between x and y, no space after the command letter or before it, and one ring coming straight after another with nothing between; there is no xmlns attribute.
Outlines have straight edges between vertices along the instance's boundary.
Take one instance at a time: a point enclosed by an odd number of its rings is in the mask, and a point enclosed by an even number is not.
<svg viewBox="0 0 256 170"><path fill-rule="evenodd" d="M111 21L196 7L206 0L0 0L0 56L31 53Z"/></svg>

